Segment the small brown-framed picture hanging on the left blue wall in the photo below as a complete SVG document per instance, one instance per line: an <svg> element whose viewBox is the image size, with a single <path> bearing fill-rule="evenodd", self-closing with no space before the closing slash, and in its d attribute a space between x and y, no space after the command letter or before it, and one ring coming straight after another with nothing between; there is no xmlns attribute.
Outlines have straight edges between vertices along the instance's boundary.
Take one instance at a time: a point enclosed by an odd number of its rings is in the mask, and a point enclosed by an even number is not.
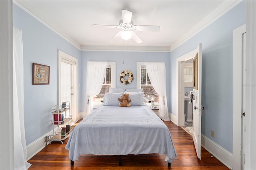
<svg viewBox="0 0 256 170"><path fill-rule="evenodd" d="M50 84L50 66L33 63L32 85Z"/></svg>

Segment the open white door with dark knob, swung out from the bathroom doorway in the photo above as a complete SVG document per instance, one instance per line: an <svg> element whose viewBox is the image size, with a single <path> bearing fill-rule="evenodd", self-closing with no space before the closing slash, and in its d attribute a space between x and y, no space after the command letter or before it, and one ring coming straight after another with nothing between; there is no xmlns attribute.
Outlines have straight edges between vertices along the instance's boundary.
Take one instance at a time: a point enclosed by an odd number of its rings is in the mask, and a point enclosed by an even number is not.
<svg viewBox="0 0 256 170"><path fill-rule="evenodd" d="M201 95L202 95L202 43L196 49L193 59L193 141L196 148L196 154L201 159Z"/></svg>

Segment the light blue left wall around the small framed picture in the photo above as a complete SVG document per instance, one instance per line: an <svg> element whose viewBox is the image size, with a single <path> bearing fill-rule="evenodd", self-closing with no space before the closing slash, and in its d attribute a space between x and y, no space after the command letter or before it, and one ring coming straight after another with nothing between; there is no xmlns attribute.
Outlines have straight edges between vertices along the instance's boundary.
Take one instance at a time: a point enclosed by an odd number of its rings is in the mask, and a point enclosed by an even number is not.
<svg viewBox="0 0 256 170"><path fill-rule="evenodd" d="M58 49L78 59L81 51L13 4L13 25L22 30L24 49L24 123L26 144L52 130L51 109L58 104ZM50 66L50 85L32 85L32 63ZM78 88L80 103L80 88Z"/></svg>

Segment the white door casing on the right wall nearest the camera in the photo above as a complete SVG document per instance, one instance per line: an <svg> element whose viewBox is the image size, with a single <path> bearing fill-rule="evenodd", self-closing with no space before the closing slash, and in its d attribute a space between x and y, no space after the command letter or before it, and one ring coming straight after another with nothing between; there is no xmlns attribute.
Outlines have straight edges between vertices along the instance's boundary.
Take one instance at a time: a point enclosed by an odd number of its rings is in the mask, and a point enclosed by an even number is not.
<svg viewBox="0 0 256 170"><path fill-rule="evenodd" d="M245 58L246 24L233 31L233 161L232 167L244 169ZM242 86L241 86L242 85Z"/></svg>

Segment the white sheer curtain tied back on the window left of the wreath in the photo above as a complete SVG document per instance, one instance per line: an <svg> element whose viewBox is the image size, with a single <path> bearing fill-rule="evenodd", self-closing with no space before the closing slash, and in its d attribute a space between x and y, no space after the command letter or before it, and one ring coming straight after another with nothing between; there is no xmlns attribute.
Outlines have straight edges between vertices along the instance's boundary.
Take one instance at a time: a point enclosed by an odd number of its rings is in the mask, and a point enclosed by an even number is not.
<svg viewBox="0 0 256 170"><path fill-rule="evenodd" d="M86 115L89 115L93 111L93 97L100 93L106 74L106 67L106 61L87 62L86 103L84 109Z"/></svg>

